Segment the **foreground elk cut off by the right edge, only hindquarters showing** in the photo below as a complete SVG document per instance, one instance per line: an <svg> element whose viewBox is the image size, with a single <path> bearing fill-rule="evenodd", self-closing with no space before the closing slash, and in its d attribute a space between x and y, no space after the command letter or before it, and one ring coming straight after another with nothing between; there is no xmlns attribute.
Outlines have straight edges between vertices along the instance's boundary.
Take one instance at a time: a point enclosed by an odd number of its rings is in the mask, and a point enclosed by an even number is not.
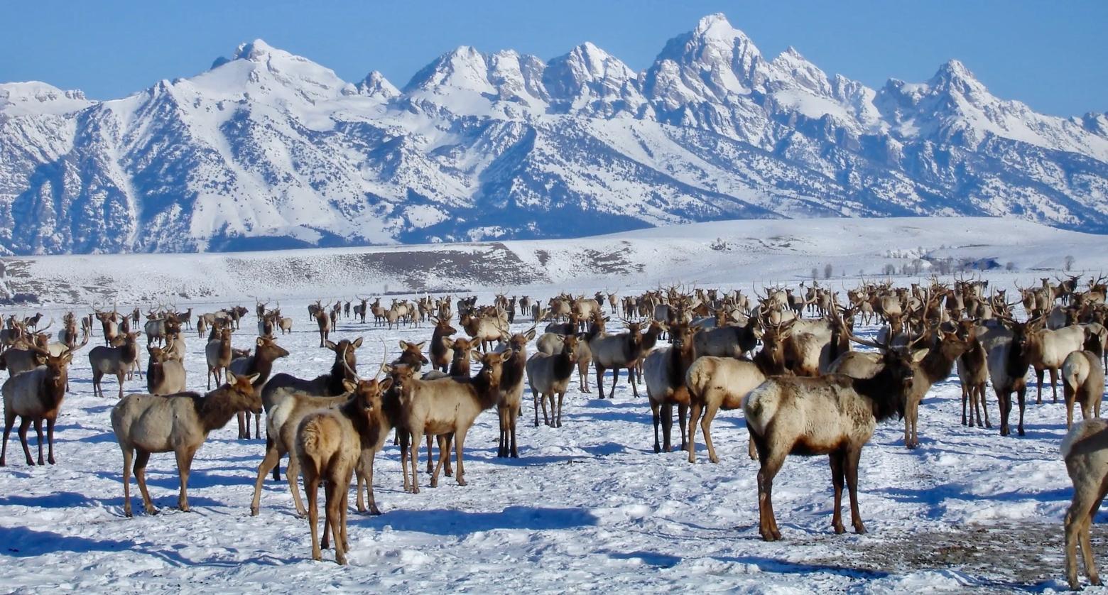
<svg viewBox="0 0 1108 595"><path fill-rule="evenodd" d="M1077 581L1077 548L1080 545L1085 574L1094 585L1100 575L1092 560L1089 538L1092 517L1100 510L1100 502L1108 493L1108 421L1090 419L1079 421L1061 441L1061 458L1074 483L1074 500L1066 511L1066 581L1069 588L1080 588Z"/></svg>

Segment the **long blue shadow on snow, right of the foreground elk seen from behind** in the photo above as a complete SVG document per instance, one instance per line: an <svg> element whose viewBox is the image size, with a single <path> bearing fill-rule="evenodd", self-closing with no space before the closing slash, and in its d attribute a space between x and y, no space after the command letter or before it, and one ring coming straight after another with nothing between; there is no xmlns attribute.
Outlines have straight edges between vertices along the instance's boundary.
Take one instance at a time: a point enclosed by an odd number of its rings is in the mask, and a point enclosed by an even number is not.
<svg viewBox="0 0 1108 595"><path fill-rule="evenodd" d="M466 512L449 509L397 510L382 516L366 519L361 523L389 526L396 531L462 536L497 529L552 531L595 526L599 523L599 519L586 509L507 506L501 512Z"/></svg>

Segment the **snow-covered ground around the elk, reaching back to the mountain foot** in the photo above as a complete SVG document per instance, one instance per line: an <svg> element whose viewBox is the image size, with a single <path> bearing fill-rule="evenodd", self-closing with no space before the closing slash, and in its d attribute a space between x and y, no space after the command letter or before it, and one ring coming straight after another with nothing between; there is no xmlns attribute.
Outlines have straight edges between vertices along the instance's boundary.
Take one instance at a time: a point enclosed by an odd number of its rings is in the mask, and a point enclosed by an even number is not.
<svg viewBox="0 0 1108 595"><path fill-rule="evenodd" d="M480 279L466 279L462 285L474 288L482 296L480 302L488 302L491 293L501 289L546 298L558 289L592 294L605 286L613 290L618 286L623 293L635 293L669 283L749 288L751 283L771 279L799 283L810 268L830 258L855 276L859 269L873 270L890 260L886 250L907 250L917 245L927 250L946 250L955 257L1015 261L1019 270L1014 274L989 274L995 283L1007 287L1017 278L1026 285L1035 277L1048 276L1029 269L1057 266L1070 250L1097 246L1096 256L1078 253L1077 267L1101 266L1108 270L1104 260L1095 260L1105 258L1108 242L1104 236L1017 222L953 220L968 227L947 232L936 223L942 219L901 219L923 232L914 237L905 232L866 237L866 230L860 227L873 225L871 222L853 222L854 227L828 223L833 229L820 228L823 224L813 222L800 222L791 229L784 222L757 222L781 229L761 237L793 236L760 249L737 247L742 238L755 237L748 222L587 240L507 243L507 250L515 255L547 250L547 259L534 264L535 275L529 283L491 277L483 287L476 284ZM821 237L822 243L817 242ZM736 247L707 247L716 238ZM572 264L558 264L563 256L568 259L597 245L623 242L629 243L625 258L637 275L605 277L586 274ZM666 242L670 243L668 249ZM946 247L940 248L941 244ZM657 246L663 246L659 249L665 254L652 256L650 250ZM793 252L793 247L799 249ZM431 247L391 249L418 252ZM311 266L320 259L341 260L351 250L309 253L295 257ZM199 311L215 309L223 304L220 300L253 307L252 300L239 301L247 295L281 298L283 310L294 318L295 327L294 334L280 337L279 342L293 355L279 360L275 372L315 377L329 368L331 352L317 347L318 334L307 319L306 297L334 301L335 297L349 299L356 293L376 295L386 283L403 287L403 279L353 278L336 267L318 269L322 280L315 287L304 281L281 286L260 280L250 286L242 280L246 274L235 273L240 277L233 277L228 273L239 270L227 266L232 260L277 261L291 256L270 253L20 259L18 271L9 267L6 281L9 290L22 284L34 285L43 295L70 296L42 308L20 310L29 314L38 309L59 319L60 312L70 307L84 310L94 299L110 299L104 291L107 286L125 287L119 297L121 309L134 306L135 298L129 299L129 295L146 296L146 300L172 298L181 309L194 305ZM901 260L894 261L899 266ZM172 266L165 266L167 263ZM144 274L144 267L156 268L161 276ZM263 268L274 267L270 264ZM255 278L258 275L256 270ZM173 285L167 285L166 278L172 278ZM125 279L127 285L116 279ZM50 288L62 280L70 289L51 294ZM443 285L448 280L431 279ZM914 277L894 280L906 284ZM429 285L431 281L424 279ZM850 286L856 279L834 283ZM176 291L178 287L211 288L211 293L205 294L205 299L191 301ZM0 307L4 314L9 310ZM516 324L513 329L529 326ZM254 328L252 314L236 334L235 346L248 347ZM875 329L862 330L871 334ZM96 339L99 332L98 328ZM381 361L382 349L396 356L398 339L421 341L430 334L429 327L390 331L343 320L332 339L363 337L358 358L366 371ZM188 384L203 389L203 341L193 334L187 346ZM145 353L142 359L145 361ZM70 378L72 391L55 433L58 464L45 469L25 466L18 439L12 435L9 466L0 469L3 592L38 593L50 587L88 593L386 588L432 593L903 593L1065 588L1061 517L1071 493L1058 454L1065 433L1065 408L1051 402L1048 389L1039 406L1034 403L1034 387L1029 391L1033 398L1027 408L1027 435L1022 438L999 435L991 391L994 429L961 425L956 378L936 384L924 400L917 450L902 447L902 424L880 425L862 451L859 492L870 531L866 535L832 533L827 458L790 456L774 482L774 507L783 540L765 543L757 527L757 463L746 456L747 432L741 412L721 412L714 423L720 463L707 462L702 437L698 434L698 462L689 464L684 452L653 452L645 389L640 388L643 397L635 398L620 379L615 399L601 401L582 393L575 380L566 396L560 429L533 428L534 411L525 393L517 460L495 458L495 412L486 411L478 418L466 440L468 486L459 486L448 478L439 488L430 489L424 476L420 494L404 493L399 450L388 445L376 465L377 500L383 514L350 515L350 565L340 567L310 561L308 523L296 517L286 483L267 480L261 513L249 516L264 442L236 440L234 421L213 432L197 453L189 482L193 512L174 510L177 473L173 456L155 454L147 469L147 482L161 513L147 516L138 512L137 490L133 489L136 515L124 517L122 455L109 421L115 384L104 381L110 398L93 397L84 352L75 358ZM591 384L595 384L594 380ZM144 381L135 379L126 383L125 391L144 388ZM33 431L31 435L33 450ZM1094 527L1094 547L1098 560L1104 560L1108 544L1099 526ZM332 556L325 552L325 561Z"/></svg>

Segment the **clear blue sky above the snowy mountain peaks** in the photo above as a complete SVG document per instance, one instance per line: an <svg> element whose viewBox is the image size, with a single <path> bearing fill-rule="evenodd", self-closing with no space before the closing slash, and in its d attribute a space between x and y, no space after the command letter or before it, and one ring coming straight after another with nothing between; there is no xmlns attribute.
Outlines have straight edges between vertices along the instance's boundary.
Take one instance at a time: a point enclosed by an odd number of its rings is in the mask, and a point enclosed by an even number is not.
<svg viewBox="0 0 1108 595"><path fill-rule="evenodd" d="M793 45L829 74L870 86L924 81L957 58L994 94L1037 111L1108 111L1106 0L18 0L2 11L0 81L114 99L202 72L256 38L347 81L379 70L397 86L462 44L550 59L592 41L642 70L712 12L769 58Z"/></svg>

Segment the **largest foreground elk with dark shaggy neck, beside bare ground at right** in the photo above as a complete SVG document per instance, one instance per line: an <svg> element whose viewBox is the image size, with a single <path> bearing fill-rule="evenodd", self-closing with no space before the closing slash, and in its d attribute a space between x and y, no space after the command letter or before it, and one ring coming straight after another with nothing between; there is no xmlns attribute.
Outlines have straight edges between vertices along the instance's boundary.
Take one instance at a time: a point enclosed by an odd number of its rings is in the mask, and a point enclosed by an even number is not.
<svg viewBox="0 0 1108 595"><path fill-rule="evenodd" d="M851 524L865 533L858 506L858 463L879 421L904 413L913 379L913 358L888 345L853 339L883 350L884 366L873 378L842 375L773 377L750 391L742 411L758 450L759 533L781 538L773 514L773 478L789 454L828 454L834 486L832 527L843 533L842 488L850 491Z"/></svg>

